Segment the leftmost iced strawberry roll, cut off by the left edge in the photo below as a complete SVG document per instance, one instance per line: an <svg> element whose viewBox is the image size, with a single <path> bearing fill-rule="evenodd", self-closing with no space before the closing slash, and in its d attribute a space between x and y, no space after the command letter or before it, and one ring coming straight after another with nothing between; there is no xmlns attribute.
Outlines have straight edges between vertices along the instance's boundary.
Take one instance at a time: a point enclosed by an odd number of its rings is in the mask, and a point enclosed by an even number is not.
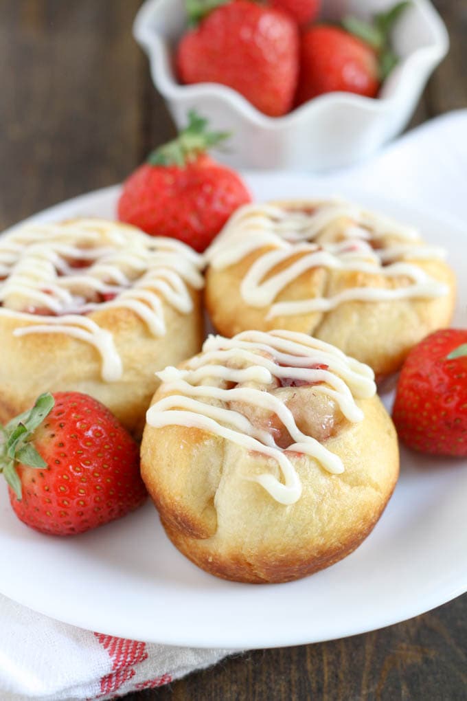
<svg viewBox="0 0 467 701"><path fill-rule="evenodd" d="M0 421L78 390L141 433L154 373L200 350L202 260L104 219L29 224L0 238Z"/></svg>

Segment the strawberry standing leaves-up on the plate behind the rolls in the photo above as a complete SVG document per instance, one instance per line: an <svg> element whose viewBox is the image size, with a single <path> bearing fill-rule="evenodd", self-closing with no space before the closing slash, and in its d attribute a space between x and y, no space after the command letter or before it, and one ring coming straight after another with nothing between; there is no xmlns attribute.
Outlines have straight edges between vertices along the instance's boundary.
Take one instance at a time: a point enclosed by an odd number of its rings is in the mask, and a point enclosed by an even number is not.
<svg viewBox="0 0 467 701"><path fill-rule="evenodd" d="M207 121L191 111L179 137L154 151L126 180L118 219L204 251L232 212L251 201L239 175L206 155L226 137L208 132Z"/></svg>

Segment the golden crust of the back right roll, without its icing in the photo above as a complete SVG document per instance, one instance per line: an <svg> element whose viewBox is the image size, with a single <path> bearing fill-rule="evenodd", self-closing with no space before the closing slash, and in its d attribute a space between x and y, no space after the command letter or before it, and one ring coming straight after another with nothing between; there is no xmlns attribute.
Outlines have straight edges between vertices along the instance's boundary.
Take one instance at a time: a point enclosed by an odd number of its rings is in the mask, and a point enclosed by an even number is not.
<svg viewBox="0 0 467 701"><path fill-rule="evenodd" d="M302 200L273 204L295 209L316 205ZM254 308L244 301L240 293L240 285L247 271L267 250L266 247L256 250L228 268L216 270L210 266L207 269L204 304L214 327L224 336L235 336L246 329L287 329L306 333L332 343L347 355L367 363L381 377L396 371L410 348L424 336L435 329L448 326L452 320L456 280L452 269L437 259L413 259L406 262L417 265L435 280L445 283L449 287L449 294L445 297L349 301L326 313L267 318L271 305ZM270 275L279 270L280 267L277 266ZM390 289L407 285L407 279L313 268L287 285L274 303L312 299L323 294L330 297L356 285Z"/></svg>

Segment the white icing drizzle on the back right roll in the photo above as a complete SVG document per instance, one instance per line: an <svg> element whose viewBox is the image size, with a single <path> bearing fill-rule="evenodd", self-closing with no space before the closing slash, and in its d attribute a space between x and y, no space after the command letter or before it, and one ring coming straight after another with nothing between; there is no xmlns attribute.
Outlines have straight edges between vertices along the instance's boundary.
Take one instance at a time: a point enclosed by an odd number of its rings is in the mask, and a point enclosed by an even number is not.
<svg viewBox="0 0 467 701"><path fill-rule="evenodd" d="M445 252L424 245L417 231L357 205L332 200L311 212L280 205L245 205L233 215L207 251L213 268L223 269L267 247L247 271L240 292L253 307L270 306L267 318L330 311L344 301L386 301L442 297L449 288L428 275L414 259L440 259ZM331 232L331 236L329 233ZM335 234L338 240L336 241ZM313 243L316 240L316 243ZM372 248L369 241L375 241ZM297 254L301 254L297 259ZM287 261L290 262L287 264ZM281 272L271 274L281 264ZM285 264L285 265L284 265ZM330 297L274 304L299 275L313 268L408 278L396 287L349 287Z"/></svg>

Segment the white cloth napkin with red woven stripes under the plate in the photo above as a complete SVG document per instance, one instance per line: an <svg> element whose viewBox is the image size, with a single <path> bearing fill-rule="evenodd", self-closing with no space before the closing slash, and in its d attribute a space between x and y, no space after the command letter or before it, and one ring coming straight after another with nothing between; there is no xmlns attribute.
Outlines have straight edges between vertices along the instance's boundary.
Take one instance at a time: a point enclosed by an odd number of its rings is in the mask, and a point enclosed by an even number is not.
<svg viewBox="0 0 467 701"><path fill-rule="evenodd" d="M439 207L467 220L467 110L398 139L372 161L315 178ZM60 592L57 592L60 596ZM232 651L176 648L90 632L0 596L0 700L110 699L214 665Z"/></svg>

